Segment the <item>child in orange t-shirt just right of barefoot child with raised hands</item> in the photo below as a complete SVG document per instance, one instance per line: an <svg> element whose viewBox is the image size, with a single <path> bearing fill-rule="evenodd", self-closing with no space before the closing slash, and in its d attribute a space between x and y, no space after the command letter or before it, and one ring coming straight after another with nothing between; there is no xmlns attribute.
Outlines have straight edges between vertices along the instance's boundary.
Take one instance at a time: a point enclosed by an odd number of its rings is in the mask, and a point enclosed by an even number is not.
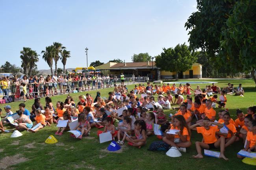
<svg viewBox="0 0 256 170"><path fill-rule="evenodd" d="M228 133L223 133L221 131L216 132L219 136L224 136L225 139L225 148L229 145L232 145L235 141L238 141L239 138L236 137L236 127L232 123L229 123L230 121L230 114L227 112L223 115L224 125L228 128Z"/></svg>

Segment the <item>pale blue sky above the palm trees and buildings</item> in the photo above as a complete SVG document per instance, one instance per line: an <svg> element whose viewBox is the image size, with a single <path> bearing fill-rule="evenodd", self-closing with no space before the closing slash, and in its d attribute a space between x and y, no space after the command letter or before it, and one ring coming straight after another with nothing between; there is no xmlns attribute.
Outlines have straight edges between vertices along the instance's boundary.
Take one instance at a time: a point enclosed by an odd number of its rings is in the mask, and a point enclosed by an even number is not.
<svg viewBox="0 0 256 170"><path fill-rule="evenodd" d="M20 50L41 54L60 42L71 52L66 68L148 52L187 43L184 24L196 11L196 0L0 0L0 65L21 65ZM39 69L49 69L39 56ZM58 62L58 67L63 68Z"/></svg>

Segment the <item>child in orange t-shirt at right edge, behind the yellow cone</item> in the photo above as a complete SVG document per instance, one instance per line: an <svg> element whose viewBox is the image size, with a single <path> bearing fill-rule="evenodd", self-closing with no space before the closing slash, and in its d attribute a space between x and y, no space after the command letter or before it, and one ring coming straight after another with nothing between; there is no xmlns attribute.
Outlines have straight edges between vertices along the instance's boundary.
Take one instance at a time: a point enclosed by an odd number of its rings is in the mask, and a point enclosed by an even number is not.
<svg viewBox="0 0 256 170"><path fill-rule="evenodd" d="M247 152L255 152L256 151L256 120L252 120L249 122L248 126L249 132L247 133L247 143L243 150ZM238 158L244 158L237 154Z"/></svg>

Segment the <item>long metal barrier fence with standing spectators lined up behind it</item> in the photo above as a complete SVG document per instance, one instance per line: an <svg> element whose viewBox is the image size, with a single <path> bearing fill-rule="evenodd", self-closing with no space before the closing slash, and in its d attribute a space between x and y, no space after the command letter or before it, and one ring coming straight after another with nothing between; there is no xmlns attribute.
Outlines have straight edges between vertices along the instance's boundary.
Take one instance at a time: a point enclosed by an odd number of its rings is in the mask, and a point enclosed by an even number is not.
<svg viewBox="0 0 256 170"><path fill-rule="evenodd" d="M39 80L39 79L38 79ZM124 85L134 84L135 82L147 82L147 77L124 78ZM27 99L52 96L66 93L76 93L81 91L90 91L95 89L104 89L120 85L121 79L104 79L104 80L80 80L80 81L63 81L63 82L44 82L26 84ZM23 86L17 86L15 83L9 86L0 85L0 99L6 96L15 96L15 100L20 100L20 93L24 92Z"/></svg>

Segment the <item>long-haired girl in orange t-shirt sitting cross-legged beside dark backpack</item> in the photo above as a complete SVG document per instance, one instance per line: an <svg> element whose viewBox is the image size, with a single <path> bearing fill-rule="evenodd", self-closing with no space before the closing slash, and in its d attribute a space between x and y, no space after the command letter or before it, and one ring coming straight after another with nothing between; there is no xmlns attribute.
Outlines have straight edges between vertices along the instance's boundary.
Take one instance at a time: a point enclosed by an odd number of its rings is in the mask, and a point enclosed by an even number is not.
<svg viewBox="0 0 256 170"><path fill-rule="evenodd" d="M181 152L186 152L186 148L191 146L190 141L190 129L187 126L186 120L182 115L174 116L173 125L171 126L171 130L180 130L176 132L176 134L166 134L163 137L163 141L172 147L178 148ZM182 130L181 130L182 129ZM165 130L168 132L169 129Z"/></svg>

